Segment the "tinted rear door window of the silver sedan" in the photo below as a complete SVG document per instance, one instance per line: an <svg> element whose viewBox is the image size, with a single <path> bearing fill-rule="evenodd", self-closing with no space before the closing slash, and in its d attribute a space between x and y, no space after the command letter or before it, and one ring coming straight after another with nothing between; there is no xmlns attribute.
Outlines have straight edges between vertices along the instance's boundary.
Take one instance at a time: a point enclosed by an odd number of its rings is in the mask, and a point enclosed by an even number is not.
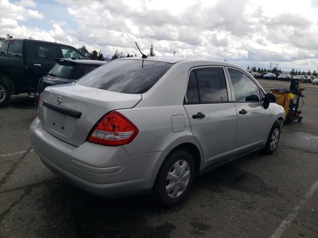
<svg viewBox="0 0 318 238"><path fill-rule="evenodd" d="M191 79L192 77L195 78L195 76L196 82ZM194 96L196 95L195 88L199 92L198 96ZM186 96L188 103L228 102L228 90L223 68L199 68L192 70Z"/></svg>

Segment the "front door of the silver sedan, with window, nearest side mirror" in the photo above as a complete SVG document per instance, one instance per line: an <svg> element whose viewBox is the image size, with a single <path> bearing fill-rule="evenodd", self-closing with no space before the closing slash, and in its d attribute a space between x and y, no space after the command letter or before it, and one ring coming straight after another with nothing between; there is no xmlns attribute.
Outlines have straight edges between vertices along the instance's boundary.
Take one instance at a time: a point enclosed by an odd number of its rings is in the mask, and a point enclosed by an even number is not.
<svg viewBox="0 0 318 238"><path fill-rule="evenodd" d="M228 67L231 89L238 113L234 149L247 151L266 142L270 111L264 109L264 92L243 71Z"/></svg>

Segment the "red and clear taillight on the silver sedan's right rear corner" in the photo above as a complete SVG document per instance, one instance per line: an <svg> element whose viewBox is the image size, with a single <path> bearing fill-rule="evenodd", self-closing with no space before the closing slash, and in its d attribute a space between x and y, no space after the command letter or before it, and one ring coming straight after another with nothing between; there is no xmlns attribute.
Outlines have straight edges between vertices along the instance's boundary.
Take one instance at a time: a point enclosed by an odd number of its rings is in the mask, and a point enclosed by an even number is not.
<svg viewBox="0 0 318 238"><path fill-rule="evenodd" d="M97 122L87 140L97 144L117 146L132 142L137 134L138 128L129 119L113 111Z"/></svg>

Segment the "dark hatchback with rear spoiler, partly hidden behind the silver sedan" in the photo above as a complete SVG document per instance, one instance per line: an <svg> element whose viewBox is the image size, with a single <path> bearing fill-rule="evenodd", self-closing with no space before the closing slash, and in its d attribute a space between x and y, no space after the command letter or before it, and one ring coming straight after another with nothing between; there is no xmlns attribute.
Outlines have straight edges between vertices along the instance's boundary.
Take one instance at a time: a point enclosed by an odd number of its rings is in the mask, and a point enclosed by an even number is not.
<svg viewBox="0 0 318 238"><path fill-rule="evenodd" d="M39 80L38 90L34 94L36 107L39 97L46 87L72 83L98 66L107 63L106 61L99 60L56 59L55 61L56 63L51 70Z"/></svg>

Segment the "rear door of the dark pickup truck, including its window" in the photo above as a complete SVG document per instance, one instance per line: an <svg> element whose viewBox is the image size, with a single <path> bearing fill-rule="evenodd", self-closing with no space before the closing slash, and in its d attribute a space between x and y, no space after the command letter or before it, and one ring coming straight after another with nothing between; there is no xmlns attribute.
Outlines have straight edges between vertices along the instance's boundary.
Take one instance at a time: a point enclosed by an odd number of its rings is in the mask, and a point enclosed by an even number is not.
<svg viewBox="0 0 318 238"><path fill-rule="evenodd" d="M55 44L41 43L36 41L28 42L28 59L26 85L28 92L35 92L39 79L46 75L56 63L58 50Z"/></svg>

